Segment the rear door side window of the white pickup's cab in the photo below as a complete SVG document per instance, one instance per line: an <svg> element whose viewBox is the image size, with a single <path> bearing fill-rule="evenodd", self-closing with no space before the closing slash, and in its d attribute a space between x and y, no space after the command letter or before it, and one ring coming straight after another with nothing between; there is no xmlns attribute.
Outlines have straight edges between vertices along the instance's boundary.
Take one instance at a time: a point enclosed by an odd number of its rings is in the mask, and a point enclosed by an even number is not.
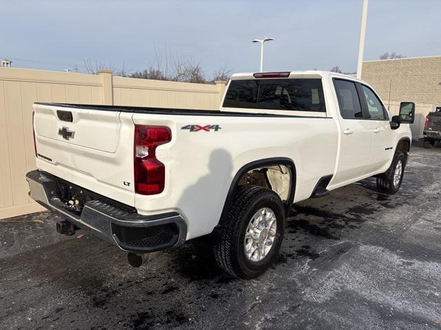
<svg viewBox="0 0 441 330"><path fill-rule="evenodd" d="M356 84L348 80L334 79L334 87L336 88L338 106L340 107L342 118L362 119L363 112Z"/></svg>

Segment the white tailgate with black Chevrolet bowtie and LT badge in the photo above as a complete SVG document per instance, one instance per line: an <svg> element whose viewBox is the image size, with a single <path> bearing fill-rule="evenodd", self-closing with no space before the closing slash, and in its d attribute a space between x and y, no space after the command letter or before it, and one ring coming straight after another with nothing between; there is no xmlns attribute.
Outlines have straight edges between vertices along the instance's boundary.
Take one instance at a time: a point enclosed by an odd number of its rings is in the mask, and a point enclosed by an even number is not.
<svg viewBox="0 0 441 330"><path fill-rule="evenodd" d="M38 168L134 205L132 113L36 103L34 133Z"/></svg>

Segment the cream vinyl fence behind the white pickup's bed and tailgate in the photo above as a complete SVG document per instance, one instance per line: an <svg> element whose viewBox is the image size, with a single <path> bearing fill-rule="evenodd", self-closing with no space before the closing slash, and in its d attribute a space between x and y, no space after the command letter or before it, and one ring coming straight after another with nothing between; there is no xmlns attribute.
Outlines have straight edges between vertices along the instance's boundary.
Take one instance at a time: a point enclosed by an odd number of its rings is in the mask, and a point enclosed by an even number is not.
<svg viewBox="0 0 441 330"><path fill-rule="evenodd" d="M0 219L43 210L28 197L25 173L35 168L32 133L34 102L114 104L140 107L218 109L225 89L43 70L0 67Z"/></svg>

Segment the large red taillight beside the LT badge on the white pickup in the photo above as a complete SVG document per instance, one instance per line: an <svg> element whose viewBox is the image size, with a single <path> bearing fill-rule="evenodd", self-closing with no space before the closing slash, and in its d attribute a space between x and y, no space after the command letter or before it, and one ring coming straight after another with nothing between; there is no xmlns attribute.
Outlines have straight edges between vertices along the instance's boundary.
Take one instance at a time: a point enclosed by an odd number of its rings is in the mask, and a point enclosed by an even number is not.
<svg viewBox="0 0 441 330"><path fill-rule="evenodd" d="M156 147L171 140L172 132L168 127L135 125L134 181L137 194L155 195L164 190L165 166L156 159Z"/></svg>

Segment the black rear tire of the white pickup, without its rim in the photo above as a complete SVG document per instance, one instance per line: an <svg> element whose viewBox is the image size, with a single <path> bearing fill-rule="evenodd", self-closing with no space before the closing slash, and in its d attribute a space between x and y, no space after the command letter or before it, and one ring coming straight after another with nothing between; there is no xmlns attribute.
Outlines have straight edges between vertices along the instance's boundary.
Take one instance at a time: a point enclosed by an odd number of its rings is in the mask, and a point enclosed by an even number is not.
<svg viewBox="0 0 441 330"><path fill-rule="evenodd" d="M250 261L245 254L245 232L254 214L270 208L276 216L276 236L261 261ZM241 186L235 193L226 217L220 220L220 240L214 245L214 257L225 272L238 278L256 278L274 262L283 241L285 208L276 192L259 186Z"/></svg>

